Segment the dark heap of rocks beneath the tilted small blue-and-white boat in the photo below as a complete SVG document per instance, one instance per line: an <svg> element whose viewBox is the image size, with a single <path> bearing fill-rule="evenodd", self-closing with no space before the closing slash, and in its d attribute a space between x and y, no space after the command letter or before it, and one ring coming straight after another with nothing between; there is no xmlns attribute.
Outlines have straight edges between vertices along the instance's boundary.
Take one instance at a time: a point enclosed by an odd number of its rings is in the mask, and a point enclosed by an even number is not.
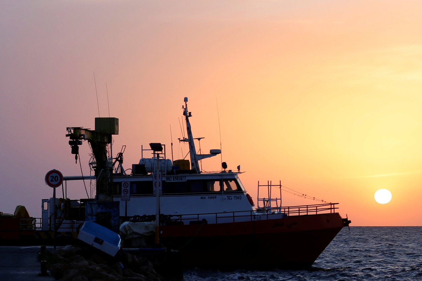
<svg viewBox="0 0 422 281"><path fill-rule="evenodd" d="M50 274L59 281L164 281L143 257L119 251L115 257L92 247L65 246L44 252Z"/></svg>

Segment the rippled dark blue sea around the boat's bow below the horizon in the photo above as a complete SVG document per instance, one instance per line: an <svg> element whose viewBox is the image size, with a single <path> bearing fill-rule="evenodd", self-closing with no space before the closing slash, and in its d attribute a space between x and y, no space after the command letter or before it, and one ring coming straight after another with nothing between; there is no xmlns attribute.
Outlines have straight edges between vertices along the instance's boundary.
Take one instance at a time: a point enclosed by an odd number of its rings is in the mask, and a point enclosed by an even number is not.
<svg viewBox="0 0 422 281"><path fill-rule="evenodd" d="M344 227L308 270L195 269L184 280L422 281L422 227Z"/></svg>

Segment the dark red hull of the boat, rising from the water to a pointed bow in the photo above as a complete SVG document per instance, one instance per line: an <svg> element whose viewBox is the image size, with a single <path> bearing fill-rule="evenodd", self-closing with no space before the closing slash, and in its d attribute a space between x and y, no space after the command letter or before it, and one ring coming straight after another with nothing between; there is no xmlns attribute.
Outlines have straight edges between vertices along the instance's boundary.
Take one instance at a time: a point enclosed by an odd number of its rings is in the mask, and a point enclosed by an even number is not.
<svg viewBox="0 0 422 281"><path fill-rule="evenodd" d="M344 227L338 213L162 226L161 241L200 268L306 268Z"/></svg>

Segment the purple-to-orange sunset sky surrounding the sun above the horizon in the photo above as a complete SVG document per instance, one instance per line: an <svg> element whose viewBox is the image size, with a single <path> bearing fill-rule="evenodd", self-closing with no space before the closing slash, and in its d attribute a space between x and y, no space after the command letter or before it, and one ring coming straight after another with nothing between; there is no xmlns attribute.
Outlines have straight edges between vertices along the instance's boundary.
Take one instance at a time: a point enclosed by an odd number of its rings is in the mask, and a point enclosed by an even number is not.
<svg viewBox="0 0 422 281"><path fill-rule="evenodd" d="M188 96L201 148L219 148L220 121L223 161L246 171L255 201L258 180L281 180L340 203L355 226L422 225L420 11L406 0L0 0L0 211L39 217L46 172L81 174L66 127L94 128L98 107L108 117L107 83L126 169L141 145L170 147L170 126L174 158L186 153ZM85 175L88 153L84 143ZM375 202L380 188L390 203ZM68 197L86 197L83 184Z"/></svg>

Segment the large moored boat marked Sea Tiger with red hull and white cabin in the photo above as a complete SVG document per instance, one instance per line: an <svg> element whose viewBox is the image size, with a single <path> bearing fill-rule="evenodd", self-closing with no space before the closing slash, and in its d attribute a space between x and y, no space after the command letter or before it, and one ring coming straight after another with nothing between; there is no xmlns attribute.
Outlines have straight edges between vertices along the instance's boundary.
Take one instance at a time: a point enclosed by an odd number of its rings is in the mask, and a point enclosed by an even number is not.
<svg viewBox="0 0 422 281"><path fill-rule="evenodd" d="M189 159L171 161L165 145L151 143L149 149L142 147L139 163L125 170L124 148L115 158L107 157L111 135L118 134L116 118L96 118L95 130L68 128L66 136L76 159L81 140L90 142L95 175L64 180L95 179L96 197L78 202L43 199L43 222L51 222L54 213L58 217L52 227L42 223L43 230L74 233L85 220L111 229L122 221L153 223L155 240L146 244L180 251L186 268L310 267L350 223L336 211L338 203L283 206L281 182L258 182L255 205L239 178L240 167L227 170L223 162L220 171L203 172L200 161L221 150L197 153L195 140L201 138L193 137L187 102L184 98L187 135L179 140L189 145ZM147 151L152 157L144 158ZM111 222L116 216L117 222ZM124 246L140 245L126 241Z"/></svg>

